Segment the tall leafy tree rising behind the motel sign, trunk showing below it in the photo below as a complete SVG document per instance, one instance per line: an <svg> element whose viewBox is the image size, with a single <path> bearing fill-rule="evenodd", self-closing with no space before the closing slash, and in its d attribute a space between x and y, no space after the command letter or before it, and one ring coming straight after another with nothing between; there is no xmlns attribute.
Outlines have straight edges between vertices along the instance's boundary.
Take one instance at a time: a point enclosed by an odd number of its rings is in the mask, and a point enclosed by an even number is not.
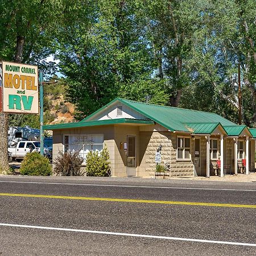
<svg viewBox="0 0 256 256"><path fill-rule="evenodd" d="M0 61L37 64L51 72L46 57L55 52L57 28L73 1L24 0L0 2ZM0 168L9 169L7 160L8 115L0 113Z"/></svg>

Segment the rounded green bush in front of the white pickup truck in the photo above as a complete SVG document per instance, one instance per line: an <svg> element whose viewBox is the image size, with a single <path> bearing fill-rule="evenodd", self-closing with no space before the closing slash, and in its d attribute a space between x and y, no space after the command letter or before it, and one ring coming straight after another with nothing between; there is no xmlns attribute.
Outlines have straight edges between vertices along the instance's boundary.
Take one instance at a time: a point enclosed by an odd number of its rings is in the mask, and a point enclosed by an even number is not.
<svg viewBox="0 0 256 256"><path fill-rule="evenodd" d="M40 155L39 152L28 153L20 166L20 174L22 175L52 175L52 167L49 159Z"/></svg>

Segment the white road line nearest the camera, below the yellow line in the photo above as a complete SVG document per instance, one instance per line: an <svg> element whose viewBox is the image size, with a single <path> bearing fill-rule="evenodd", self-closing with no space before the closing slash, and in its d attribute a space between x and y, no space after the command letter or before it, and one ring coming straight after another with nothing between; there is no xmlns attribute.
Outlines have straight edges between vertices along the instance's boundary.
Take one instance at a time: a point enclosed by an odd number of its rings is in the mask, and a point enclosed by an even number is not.
<svg viewBox="0 0 256 256"><path fill-rule="evenodd" d="M256 243L241 243L241 242L201 240L201 239L181 238L181 237L151 236L151 235L143 235L143 234L104 232L104 231L85 230L85 229L65 229L65 228L53 228L53 227L48 227L48 226L30 226L30 225L17 225L17 224L7 224L7 223L0 223L0 226L10 226L10 227L14 227L14 228L47 229L47 230L58 230L58 231L68 231L68 232L80 232L80 233L93 233L93 234L107 234L107 235L113 235L113 236L155 238L155 239L175 240L175 241L188 241L188 242L201 242L201 243L219 243L219 244L222 244L222 245L256 246Z"/></svg>

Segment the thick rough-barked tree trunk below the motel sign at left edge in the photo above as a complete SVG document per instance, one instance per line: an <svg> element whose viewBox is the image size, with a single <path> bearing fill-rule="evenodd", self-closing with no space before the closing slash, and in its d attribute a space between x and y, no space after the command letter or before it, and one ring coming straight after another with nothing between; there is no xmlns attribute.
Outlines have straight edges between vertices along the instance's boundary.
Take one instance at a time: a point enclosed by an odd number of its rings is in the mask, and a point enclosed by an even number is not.
<svg viewBox="0 0 256 256"><path fill-rule="evenodd" d="M0 173L9 170L8 163L8 114L0 113Z"/></svg>

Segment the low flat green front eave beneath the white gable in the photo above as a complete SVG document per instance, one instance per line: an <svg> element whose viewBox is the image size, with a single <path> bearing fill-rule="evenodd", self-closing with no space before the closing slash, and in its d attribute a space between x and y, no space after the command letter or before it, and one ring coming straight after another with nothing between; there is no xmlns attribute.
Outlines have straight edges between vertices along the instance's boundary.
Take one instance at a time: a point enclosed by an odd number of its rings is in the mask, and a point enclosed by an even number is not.
<svg viewBox="0 0 256 256"><path fill-rule="evenodd" d="M118 119L107 119L107 120L97 120L97 121L87 121L87 122L74 122L74 123L60 123L58 125L44 125L43 130L57 130L57 129L70 129L78 127L88 127L88 126L99 126L99 125L116 125L121 123L138 123L142 125L154 125L151 120L141 120L141 119L129 119L129 118L118 118Z"/></svg>

